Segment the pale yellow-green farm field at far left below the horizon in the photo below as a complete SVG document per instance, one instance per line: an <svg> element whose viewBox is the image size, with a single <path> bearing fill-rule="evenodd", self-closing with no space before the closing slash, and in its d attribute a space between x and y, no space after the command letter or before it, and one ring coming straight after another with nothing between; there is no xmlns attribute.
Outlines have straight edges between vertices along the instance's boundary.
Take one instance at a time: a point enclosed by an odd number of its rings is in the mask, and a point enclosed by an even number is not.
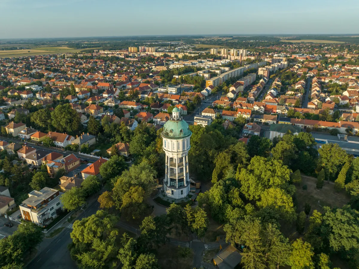
<svg viewBox="0 0 359 269"><path fill-rule="evenodd" d="M70 49L69 47L33 47L25 50L0 50L0 58L6 57L19 57L19 56L32 56L44 54L57 54L57 53L79 53L80 49Z"/></svg>

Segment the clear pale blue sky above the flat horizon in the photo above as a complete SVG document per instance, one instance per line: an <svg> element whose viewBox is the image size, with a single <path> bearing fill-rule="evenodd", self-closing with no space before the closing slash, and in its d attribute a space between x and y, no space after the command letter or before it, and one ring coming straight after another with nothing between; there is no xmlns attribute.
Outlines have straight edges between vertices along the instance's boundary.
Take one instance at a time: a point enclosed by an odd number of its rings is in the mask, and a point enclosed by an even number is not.
<svg viewBox="0 0 359 269"><path fill-rule="evenodd" d="M0 0L0 39L358 34L358 0Z"/></svg>

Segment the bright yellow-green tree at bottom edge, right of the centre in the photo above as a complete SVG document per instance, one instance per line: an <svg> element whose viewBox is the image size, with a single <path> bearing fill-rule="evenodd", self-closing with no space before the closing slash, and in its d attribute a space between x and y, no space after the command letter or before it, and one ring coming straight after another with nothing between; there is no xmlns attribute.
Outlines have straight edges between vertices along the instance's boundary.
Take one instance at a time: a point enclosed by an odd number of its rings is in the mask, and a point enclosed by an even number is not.
<svg viewBox="0 0 359 269"><path fill-rule="evenodd" d="M314 269L312 246L297 239L292 244L292 253L289 256L289 265L292 269Z"/></svg>

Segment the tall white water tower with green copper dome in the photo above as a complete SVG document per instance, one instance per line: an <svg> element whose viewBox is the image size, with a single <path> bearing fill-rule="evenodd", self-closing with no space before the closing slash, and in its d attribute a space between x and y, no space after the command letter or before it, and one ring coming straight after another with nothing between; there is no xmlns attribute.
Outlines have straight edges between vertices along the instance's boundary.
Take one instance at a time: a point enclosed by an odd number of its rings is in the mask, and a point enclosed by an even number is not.
<svg viewBox="0 0 359 269"><path fill-rule="evenodd" d="M162 147L166 155L164 192L168 197L181 199L190 192L188 151L192 132L182 119L178 108L172 110L171 119L163 125Z"/></svg>

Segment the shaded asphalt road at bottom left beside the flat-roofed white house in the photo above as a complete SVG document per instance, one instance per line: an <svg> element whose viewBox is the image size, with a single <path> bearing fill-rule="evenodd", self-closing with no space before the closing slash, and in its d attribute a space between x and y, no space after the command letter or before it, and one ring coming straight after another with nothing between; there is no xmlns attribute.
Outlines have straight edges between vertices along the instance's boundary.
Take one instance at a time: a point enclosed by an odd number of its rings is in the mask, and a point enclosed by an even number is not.
<svg viewBox="0 0 359 269"><path fill-rule="evenodd" d="M95 214L99 208L99 203L95 201L85 209L86 216ZM84 218L84 212L76 219ZM67 228L69 227L69 228ZM28 264L28 269L76 269L76 263L71 259L70 251L67 245L72 242L70 233L72 232L72 225L64 228L58 236L50 239L44 239L40 245L41 251L37 254L34 260Z"/></svg>

